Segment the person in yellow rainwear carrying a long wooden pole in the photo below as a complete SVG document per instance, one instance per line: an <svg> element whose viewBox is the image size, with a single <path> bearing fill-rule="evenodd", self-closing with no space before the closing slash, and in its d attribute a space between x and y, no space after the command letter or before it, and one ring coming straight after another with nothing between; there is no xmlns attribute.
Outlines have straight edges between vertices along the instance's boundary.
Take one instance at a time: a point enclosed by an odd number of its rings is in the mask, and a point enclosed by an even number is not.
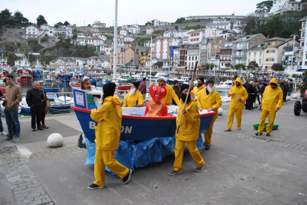
<svg viewBox="0 0 307 205"><path fill-rule="evenodd" d="M185 144L187 145L188 151L192 156L194 162L196 163L195 171L203 170L204 159L201 157L199 150L196 147L196 141L199 137L200 128L200 116L198 112L198 107L195 100L191 100L191 94L189 93L189 85L181 85L181 99L179 102L178 114L176 118L176 125L178 129L179 121L181 115L183 115L181 120L181 125L178 133L176 132L176 142L175 142L175 162L173 164L173 170L169 172L169 175L182 173L182 159L185 151ZM188 96L187 96L188 95ZM188 98L185 109L183 109L185 104L185 99Z"/></svg>

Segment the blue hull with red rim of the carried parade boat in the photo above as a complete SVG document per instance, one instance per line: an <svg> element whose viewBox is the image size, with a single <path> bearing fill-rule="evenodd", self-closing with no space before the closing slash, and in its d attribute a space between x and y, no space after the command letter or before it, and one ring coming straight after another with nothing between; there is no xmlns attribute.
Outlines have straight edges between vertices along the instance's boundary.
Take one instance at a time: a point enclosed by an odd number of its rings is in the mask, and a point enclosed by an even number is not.
<svg viewBox="0 0 307 205"><path fill-rule="evenodd" d="M75 111L81 128L88 140L95 140L95 125L91 110L71 107ZM200 114L200 130L207 130L216 112ZM158 129L158 130L157 130ZM150 140L155 137L173 137L176 132L176 116L144 117L122 115L121 140Z"/></svg>

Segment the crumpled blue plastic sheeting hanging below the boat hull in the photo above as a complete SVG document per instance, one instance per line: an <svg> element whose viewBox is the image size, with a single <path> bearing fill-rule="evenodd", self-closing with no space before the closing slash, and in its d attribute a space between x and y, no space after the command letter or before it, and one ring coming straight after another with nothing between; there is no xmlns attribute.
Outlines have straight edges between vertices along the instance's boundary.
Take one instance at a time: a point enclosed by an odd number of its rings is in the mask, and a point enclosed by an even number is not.
<svg viewBox="0 0 307 205"><path fill-rule="evenodd" d="M96 144L87 140L87 138L84 141L87 148L85 165L94 164ZM203 149L204 142L201 135L199 135L196 145L198 149ZM174 148L175 135L173 137L152 138L139 142L120 140L119 147L115 151L115 159L134 171L134 167L144 167L153 162L161 162L166 155L174 153ZM106 170L111 172L107 167Z"/></svg>

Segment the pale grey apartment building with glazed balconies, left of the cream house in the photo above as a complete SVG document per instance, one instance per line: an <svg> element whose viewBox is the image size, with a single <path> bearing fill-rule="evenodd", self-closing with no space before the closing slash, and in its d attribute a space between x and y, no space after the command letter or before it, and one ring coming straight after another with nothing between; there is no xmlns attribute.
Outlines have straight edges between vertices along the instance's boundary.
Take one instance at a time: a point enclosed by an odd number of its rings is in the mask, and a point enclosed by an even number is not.
<svg viewBox="0 0 307 205"><path fill-rule="evenodd" d="M232 44L231 65L247 64L247 49L258 43L265 42L267 38L262 34L244 35Z"/></svg>

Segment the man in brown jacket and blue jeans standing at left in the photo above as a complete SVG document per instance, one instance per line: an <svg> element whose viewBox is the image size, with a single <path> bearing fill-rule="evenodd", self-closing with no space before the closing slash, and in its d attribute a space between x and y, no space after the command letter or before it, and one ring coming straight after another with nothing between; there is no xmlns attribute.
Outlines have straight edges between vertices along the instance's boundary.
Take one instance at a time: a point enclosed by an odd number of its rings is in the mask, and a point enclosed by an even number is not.
<svg viewBox="0 0 307 205"><path fill-rule="evenodd" d="M7 129L9 131L9 135L2 140L2 142L13 140L13 142L19 141L20 135L20 123L18 119L18 105L22 100L21 88L14 83L14 76L12 74L6 75L6 82L9 84L5 88L6 97L2 98L5 101L4 113L5 120L7 124ZM15 136L13 135L13 125L12 121L14 121L16 126Z"/></svg>

